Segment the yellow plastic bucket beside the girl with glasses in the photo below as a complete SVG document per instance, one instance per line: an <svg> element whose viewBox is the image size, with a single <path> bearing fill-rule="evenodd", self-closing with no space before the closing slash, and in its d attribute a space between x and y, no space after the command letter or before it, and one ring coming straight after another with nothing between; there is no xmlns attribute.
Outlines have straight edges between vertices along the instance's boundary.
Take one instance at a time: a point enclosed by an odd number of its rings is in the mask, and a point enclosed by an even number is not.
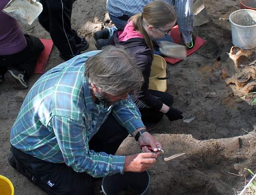
<svg viewBox="0 0 256 195"><path fill-rule="evenodd" d="M166 69L165 59L160 55L154 55L148 89L166 92L167 78L169 78L169 72Z"/></svg>

